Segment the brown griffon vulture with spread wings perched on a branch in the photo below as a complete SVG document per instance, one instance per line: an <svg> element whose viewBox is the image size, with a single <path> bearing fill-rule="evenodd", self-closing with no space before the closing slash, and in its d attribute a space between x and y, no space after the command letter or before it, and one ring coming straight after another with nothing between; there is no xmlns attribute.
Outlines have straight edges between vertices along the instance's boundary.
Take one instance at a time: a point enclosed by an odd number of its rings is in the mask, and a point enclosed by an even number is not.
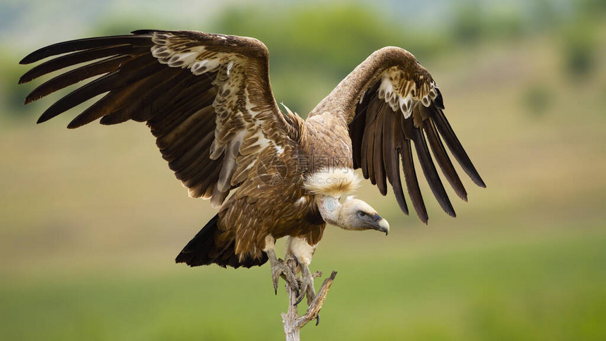
<svg viewBox="0 0 606 341"><path fill-rule="evenodd" d="M285 275L314 297L309 263L326 223L346 230L389 224L369 204L340 197L358 185L361 168L385 195L390 183L400 209L404 173L412 206L427 222L413 147L440 206L455 216L429 149L461 199L466 191L443 145L476 185L485 187L443 113L440 90L408 51L384 47L366 58L309 113L278 109L268 75L268 50L257 39L194 31L137 30L132 35L61 42L23 58L39 64L20 83L69 68L34 89L25 104L99 76L52 104L38 123L104 94L68 128L97 118L104 125L146 122L163 159L218 213L177 256L201 266L261 266L274 288ZM402 166L400 166L402 160ZM231 196L229 194L232 193ZM302 284L276 259L274 242L288 237Z"/></svg>

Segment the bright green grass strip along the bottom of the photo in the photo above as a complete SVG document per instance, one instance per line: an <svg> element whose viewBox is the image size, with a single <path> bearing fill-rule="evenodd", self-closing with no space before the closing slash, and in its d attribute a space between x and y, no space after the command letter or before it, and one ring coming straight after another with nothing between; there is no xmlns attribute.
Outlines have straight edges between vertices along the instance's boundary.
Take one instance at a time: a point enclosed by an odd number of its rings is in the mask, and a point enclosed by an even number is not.
<svg viewBox="0 0 606 341"><path fill-rule="evenodd" d="M457 247L427 242L428 249L412 250L390 242L362 252L357 249L362 240L347 248L338 232L330 233L314 266L339 274L320 325L304 328L302 337L604 340L606 233L575 228L583 233L559 230L545 238L521 233ZM135 263L39 269L3 281L1 339L283 337L278 313L285 310L285 292L273 295L267 268L192 271L164 261L142 270Z"/></svg>

